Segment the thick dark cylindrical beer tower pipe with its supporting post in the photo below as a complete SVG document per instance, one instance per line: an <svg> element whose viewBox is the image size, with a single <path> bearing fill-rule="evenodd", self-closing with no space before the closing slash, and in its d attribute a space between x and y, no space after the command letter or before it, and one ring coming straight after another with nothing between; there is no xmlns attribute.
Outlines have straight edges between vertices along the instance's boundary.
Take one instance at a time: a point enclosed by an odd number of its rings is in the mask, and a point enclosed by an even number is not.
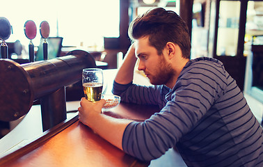
<svg viewBox="0 0 263 167"><path fill-rule="evenodd" d="M65 86L81 81L82 70L88 67L97 66L82 50L22 65L0 59L0 120L17 120L40 100L43 131L58 125L66 119Z"/></svg>

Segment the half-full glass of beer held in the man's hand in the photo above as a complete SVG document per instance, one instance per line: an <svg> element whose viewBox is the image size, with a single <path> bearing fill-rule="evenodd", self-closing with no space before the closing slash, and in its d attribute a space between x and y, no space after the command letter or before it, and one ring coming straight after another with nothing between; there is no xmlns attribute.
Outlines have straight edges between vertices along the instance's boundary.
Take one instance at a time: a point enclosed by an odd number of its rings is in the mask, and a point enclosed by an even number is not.
<svg viewBox="0 0 263 167"><path fill-rule="evenodd" d="M90 102L97 102L102 97L102 69L86 68L82 72L82 86L85 97Z"/></svg>

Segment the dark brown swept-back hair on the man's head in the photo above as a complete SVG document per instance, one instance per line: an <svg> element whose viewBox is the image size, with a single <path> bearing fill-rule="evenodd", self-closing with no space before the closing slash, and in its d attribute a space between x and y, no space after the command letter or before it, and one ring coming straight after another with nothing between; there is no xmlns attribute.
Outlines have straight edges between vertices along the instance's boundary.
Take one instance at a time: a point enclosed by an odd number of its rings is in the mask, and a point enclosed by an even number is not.
<svg viewBox="0 0 263 167"><path fill-rule="evenodd" d="M149 36L150 45L161 55L167 42L179 45L184 58L190 58L191 42L184 20L171 10L154 8L134 19L129 25L129 38Z"/></svg>

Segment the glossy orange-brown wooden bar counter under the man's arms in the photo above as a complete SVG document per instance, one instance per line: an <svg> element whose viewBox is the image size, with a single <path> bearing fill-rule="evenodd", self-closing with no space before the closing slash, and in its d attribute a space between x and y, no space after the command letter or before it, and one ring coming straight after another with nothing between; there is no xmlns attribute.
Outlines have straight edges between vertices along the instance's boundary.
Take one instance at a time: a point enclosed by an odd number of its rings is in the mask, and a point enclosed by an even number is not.
<svg viewBox="0 0 263 167"><path fill-rule="evenodd" d="M113 72L109 70L109 72ZM113 72L115 73L115 71ZM115 76L112 74L111 76ZM113 78L108 79L112 85ZM111 89L111 88L109 88ZM79 102L76 102L79 104ZM76 107L77 108L77 107ZM76 109L77 110L77 109ZM120 103L103 114L115 118L145 120L157 106L143 106ZM125 154L108 141L83 125L77 113L64 122L43 132L24 147L0 159L0 166L148 166L148 162ZM31 125L34 126L34 125ZM113 132L114 135L114 132ZM13 135L15 138L15 135Z"/></svg>

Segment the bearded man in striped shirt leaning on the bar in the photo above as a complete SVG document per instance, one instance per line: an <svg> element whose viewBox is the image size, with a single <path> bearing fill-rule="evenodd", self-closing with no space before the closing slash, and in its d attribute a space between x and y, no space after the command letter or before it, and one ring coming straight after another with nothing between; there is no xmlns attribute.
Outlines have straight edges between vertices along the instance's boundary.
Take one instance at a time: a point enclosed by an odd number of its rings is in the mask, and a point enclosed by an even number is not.
<svg viewBox="0 0 263 167"><path fill-rule="evenodd" d="M223 64L190 60L186 24L155 8L129 26L133 44L113 84L125 102L158 104L144 122L101 114L104 100L81 99L79 120L118 148L143 161L176 147L187 166L263 166L262 127ZM134 65L154 86L132 84Z"/></svg>

